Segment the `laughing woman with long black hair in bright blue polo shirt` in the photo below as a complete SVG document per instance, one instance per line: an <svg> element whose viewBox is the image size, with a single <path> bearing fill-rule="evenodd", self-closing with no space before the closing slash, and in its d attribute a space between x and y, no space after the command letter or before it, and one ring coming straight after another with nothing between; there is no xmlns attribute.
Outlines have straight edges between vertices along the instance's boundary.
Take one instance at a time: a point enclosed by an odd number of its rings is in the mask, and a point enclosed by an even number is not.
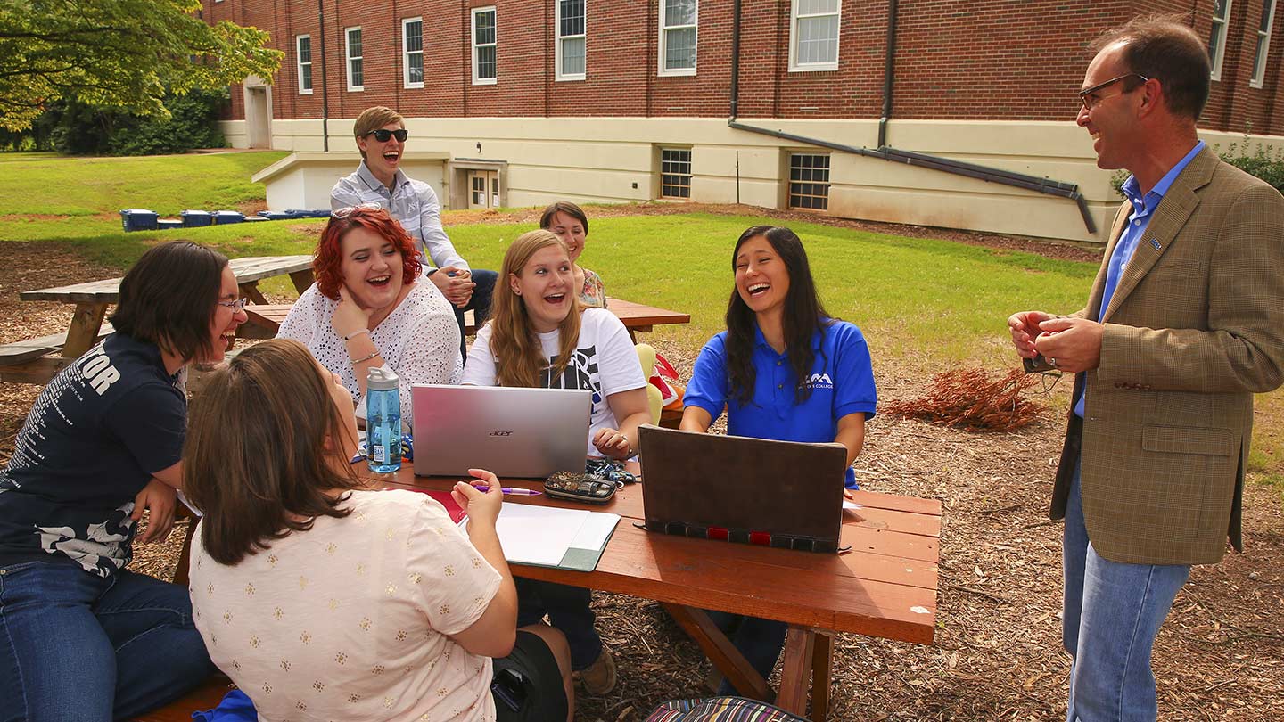
<svg viewBox="0 0 1284 722"><path fill-rule="evenodd" d="M706 432L727 409L727 433L847 448L845 486L878 394L865 338L826 313L802 242L790 229L754 226L732 252L736 289L727 330L709 339L687 385L682 428ZM783 622L713 614L763 677L785 645ZM722 694L733 694L723 682Z"/></svg>

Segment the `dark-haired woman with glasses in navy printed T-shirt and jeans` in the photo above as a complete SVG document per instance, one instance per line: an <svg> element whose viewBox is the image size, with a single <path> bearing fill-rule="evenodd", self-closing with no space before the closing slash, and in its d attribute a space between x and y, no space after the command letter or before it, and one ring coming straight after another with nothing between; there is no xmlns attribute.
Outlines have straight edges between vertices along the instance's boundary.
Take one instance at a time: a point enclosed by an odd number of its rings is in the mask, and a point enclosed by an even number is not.
<svg viewBox="0 0 1284 722"><path fill-rule="evenodd" d="M227 258L157 245L121 280L116 333L36 400L0 470L0 714L143 714L213 665L187 590L126 570L163 541L182 480L186 367L218 362L245 321Z"/></svg>

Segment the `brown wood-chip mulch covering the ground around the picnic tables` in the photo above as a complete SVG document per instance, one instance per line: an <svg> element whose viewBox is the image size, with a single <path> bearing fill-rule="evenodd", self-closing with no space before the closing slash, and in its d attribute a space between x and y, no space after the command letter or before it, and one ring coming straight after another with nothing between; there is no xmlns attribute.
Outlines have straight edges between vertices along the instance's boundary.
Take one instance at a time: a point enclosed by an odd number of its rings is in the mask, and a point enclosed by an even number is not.
<svg viewBox="0 0 1284 722"><path fill-rule="evenodd" d="M692 209L763 215L761 208L645 204L620 213ZM511 215L452 213L451 224L525 222ZM594 208L593 217L611 215ZM772 213L899 235L949 238L1057 258L1090 252L1028 239ZM473 217L475 216L475 217ZM71 307L23 303L18 292L117 275L56 243L3 243L0 343L63 330ZM996 329L1002 334L1002 329ZM698 348L659 342L684 375ZM878 362L885 401L922 396L927 370ZM39 393L0 384L0 464ZM1068 656L1061 650L1061 523L1048 519L1064 394L1014 433L967 433L881 415L856 460L863 488L939 498L944 506L936 640L921 646L840 635L829 719L1043 721L1064 717ZM1156 644L1159 718L1284 719L1284 504L1252 480L1244 489L1244 554L1198 567L1177 596ZM181 528L163 545L136 547L134 568L173 572ZM610 695L580 690L577 719L628 722L659 701L706 694L709 663L655 603L594 597L598 628L619 662Z"/></svg>

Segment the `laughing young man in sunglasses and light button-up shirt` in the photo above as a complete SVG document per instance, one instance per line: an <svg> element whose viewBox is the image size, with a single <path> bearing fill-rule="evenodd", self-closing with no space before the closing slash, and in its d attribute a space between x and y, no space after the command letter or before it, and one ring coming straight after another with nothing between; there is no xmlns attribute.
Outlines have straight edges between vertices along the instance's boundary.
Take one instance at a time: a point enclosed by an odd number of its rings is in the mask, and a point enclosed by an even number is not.
<svg viewBox="0 0 1284 722"><path fill-rule="evenodd" d="M330 208L379 203L392 212L435 269L428 279L455 307L455 320L464 337L464 312L473 311L478 328L490 316L490 294L497 274L470 269L455 251L442 227L442 203L433 186L406 176L401 163L406 153L406 122L392 108L367 108L353 122L352 132L361 152L361 166L330 190ZM460 355L466 353L462 343Z"/></svg>

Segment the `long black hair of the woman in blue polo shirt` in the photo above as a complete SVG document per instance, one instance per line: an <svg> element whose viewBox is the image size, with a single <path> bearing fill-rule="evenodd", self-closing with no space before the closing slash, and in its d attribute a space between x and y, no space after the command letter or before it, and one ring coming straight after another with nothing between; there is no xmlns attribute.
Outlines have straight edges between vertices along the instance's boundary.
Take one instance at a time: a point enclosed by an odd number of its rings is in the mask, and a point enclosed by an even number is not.
<svg viewBox="0 0 1284 722"><path fill-rule="evenodd" d="M802 240L790 229L754 226L740 234L740 240L731 253L732 270L736 269L740 247L756 236L763 236L772 244L772 249L785 262L785 269L790 274L790 290L785 295L785 346L790 366L797 378L794 398L801 403L811 396L811 387L808 384L811 365L815 362L811 337L831 325L833 319L826 312L815 290ZM754 311L740 297L740 289L733 288L731 301L727 303L727 371L731 378L731 397L741 403L749 403L754 398L755 324Z"/></svg>

